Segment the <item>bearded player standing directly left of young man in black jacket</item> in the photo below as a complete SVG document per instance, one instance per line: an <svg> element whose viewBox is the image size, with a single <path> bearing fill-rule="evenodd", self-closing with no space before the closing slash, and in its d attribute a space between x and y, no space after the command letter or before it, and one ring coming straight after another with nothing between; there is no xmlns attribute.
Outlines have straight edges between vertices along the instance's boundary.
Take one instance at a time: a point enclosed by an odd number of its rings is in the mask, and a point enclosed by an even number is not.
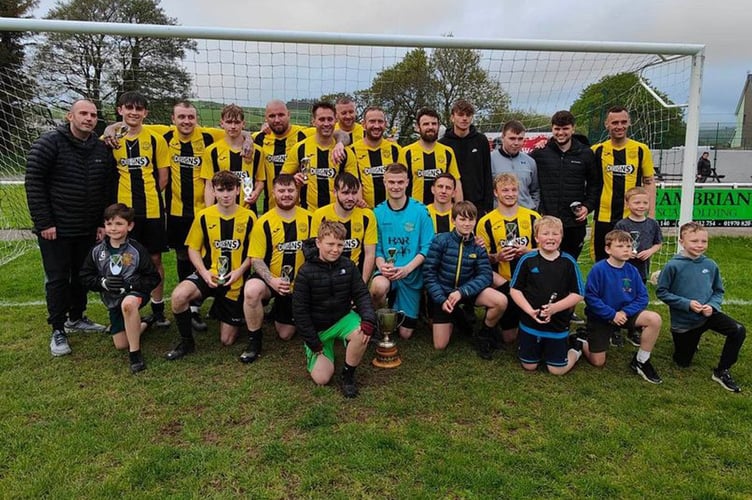
<svg viewBox="0 0 752 500"><path fill-rule="evenodd" d="M407 195L421 203L433 202L431 186L443 172L449 172L457 180L455 201L462 201L462 183L454 150L436 139L439 137L439 114L433 109L422 108L416 119L420 139L404 147L400 163L407 167L410 181Z"/></svg>

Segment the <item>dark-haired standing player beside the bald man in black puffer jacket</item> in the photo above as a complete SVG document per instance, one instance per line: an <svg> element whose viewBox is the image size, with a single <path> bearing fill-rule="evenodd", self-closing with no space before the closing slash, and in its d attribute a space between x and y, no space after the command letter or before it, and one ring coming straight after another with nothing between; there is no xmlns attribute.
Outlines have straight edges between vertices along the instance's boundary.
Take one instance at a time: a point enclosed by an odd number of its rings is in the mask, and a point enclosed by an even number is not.
<svg viewBox="0 0 752 500"><path fill-rule="evenodd" d="M165 209L162 191L170 175L170 153L164 137L144 128L149 114L146 97L131 91L117 102L117 112L128 126L128 132L112 151L117 166L117 201L135 211L131 237L151 255L162 281L151 292L152 314L144 318L148 324L168 327L164 315L164 266L162 253L167 251Z"/></svg>

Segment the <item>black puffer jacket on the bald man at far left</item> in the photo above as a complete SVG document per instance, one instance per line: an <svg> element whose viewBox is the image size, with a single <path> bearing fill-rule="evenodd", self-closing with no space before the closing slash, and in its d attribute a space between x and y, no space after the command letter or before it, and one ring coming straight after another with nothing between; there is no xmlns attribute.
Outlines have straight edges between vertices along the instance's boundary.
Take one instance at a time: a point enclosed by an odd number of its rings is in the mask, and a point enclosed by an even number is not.
<svg viewBox="0 0 752 500"><path fill-rule="evenodd" d="M57 228L59 237L88 236L102 225L113 193L109 149L93 134L77 139L61 125L37 139L26 161L26 200L39 233Z"/></svg>

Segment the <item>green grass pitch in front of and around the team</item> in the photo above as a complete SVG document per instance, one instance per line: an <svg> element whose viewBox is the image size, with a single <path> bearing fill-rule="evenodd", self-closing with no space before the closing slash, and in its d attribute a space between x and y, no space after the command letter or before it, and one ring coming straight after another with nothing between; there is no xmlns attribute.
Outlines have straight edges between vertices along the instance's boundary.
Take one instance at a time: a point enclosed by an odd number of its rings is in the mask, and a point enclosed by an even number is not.
<svg viewBox="0 0 752 500"><path fill-rule="evenodd" d="M752 300L752 239L713 238L709 254L727 298ZM0 289L5 304L41 300L37 252L5 266ZM749 309L726 308L747 325ZM106 318L94 296L89 315ZM434 352L422 329L399 344L400 368L362 366L360 397L344 400L309 380L300 339L268 329L247 366L213 322L174 363L161 358L174 327L152 331L149 369L132 376L106 335L74 334L73 354L51 358L44 318L43 306L0 308L3 498L752 497L752 367L745 348L741 394L712 382L717 335L679 369L664 328L653 386L628 370L631 347L557 378L509 352L484 362L462 334Z"/></svg>

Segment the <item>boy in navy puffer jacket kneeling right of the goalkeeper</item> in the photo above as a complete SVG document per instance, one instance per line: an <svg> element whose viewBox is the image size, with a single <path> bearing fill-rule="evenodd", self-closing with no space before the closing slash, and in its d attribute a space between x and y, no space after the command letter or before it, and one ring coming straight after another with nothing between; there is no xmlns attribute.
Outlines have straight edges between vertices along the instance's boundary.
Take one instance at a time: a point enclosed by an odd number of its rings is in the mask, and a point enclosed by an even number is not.
<svg viewBox="0 0 752 500"><path fill-rule="evenodd" d="M491 288L493 271L485 248L475 241L473 229L478 209L472 202L460 201L452 207L454 229L437 234L423 263L423 279L428 291L429 315L433 320L433 347L445 349L452 335L452 316L459 305L483 306L486 314L477 342L490 343L496 323L504 314L507 298ZM490 349L485 359L491 359Z"/></svg>

